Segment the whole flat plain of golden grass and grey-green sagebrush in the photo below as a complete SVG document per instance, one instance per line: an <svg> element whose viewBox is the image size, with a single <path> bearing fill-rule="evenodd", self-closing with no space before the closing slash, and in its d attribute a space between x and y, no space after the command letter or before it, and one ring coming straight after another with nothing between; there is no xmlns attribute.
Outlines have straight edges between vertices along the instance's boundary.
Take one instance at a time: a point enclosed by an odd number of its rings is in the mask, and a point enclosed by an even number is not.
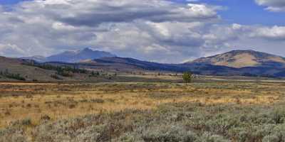
<svg viewBox="0 0 285 142"><path fill-rule="evenodd" d="M0 141L285 141L285 84L0 85Z"/></svg>

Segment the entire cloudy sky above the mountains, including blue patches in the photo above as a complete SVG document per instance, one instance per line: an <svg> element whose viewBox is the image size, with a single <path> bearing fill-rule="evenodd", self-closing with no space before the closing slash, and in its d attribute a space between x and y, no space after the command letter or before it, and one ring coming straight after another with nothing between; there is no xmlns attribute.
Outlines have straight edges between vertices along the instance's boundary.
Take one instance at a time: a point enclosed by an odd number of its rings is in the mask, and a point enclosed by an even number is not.
<svg viewBox="0 0 285 142"><path fill-rule="evenodd" d="M92 48L179 63L229 50L285 56L284 0L0 0L0 55Z"/></svg>

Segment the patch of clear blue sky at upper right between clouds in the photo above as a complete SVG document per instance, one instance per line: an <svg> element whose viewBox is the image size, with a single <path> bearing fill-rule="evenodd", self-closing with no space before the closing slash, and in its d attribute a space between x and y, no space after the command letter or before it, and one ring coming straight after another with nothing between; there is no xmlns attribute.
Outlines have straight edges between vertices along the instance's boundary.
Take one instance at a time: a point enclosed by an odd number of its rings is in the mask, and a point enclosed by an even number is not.
<svg viewBox="0 0 285 142"><path fill-rule="evenodd" d="M175 0L187 4L185 0ZM264 10L264 6L258 6L254 0L200 0L196 3L225 6L227 10L219 11L219 14L227 23L261 24L267 26L285 25L285 14Z"/></svg>

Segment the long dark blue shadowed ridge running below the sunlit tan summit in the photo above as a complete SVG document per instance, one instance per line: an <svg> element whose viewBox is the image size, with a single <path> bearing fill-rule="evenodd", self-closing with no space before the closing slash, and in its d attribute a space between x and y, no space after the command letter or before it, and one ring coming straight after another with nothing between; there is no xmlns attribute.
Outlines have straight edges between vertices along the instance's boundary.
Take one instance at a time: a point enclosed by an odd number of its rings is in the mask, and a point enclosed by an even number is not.
<svg viewBox="0 0 285 142"><path fill-rule="evenodd" d="M232 51L232 54L236 52L246 52L246 51ZM247 52L246 52L247 53ZM259 53L250 51L249 53ZM229 53L225 53L228 54ZM243 55L243 54L242 54ZM263 55L263 56L262 56ZM186 72L191 71L197 75L237 75L237 76L263 76L263 77L285 77L285 67L282 62L276 62L280 59L279 56L274 56L261 53L255 55L259 60L261 56L261 65L249 66L249 67L229 67L227 65L211 65L205 62L186 62L184 64L162 64L157 62L147 62L142 60L137 60L134 58L99 58L95 60L86 60L85 62L80 62L83 68L100 69L100 70L115 70L120 72L132 72L132 71L168 71L168 72ZM266 58L272 59L268 60ZM244 64L247 65L247 64Z"/></svg>

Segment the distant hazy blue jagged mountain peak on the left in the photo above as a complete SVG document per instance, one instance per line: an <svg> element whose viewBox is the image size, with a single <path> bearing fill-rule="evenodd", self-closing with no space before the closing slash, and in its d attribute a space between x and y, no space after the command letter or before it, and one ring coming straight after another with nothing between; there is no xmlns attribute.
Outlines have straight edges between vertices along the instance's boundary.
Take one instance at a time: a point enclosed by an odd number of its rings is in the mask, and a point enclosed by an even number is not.
<svg viewBox="0 0 285 142"><path fill-rule="evenodd" d="M83 60L93 60L104 57L115 57L108 52L91 50L90 48L85 48L78 51L66 51L59 53L57 55L51 55L49 57L33 56L24 59L36 60L37 62L81 62Z"/></svg>

